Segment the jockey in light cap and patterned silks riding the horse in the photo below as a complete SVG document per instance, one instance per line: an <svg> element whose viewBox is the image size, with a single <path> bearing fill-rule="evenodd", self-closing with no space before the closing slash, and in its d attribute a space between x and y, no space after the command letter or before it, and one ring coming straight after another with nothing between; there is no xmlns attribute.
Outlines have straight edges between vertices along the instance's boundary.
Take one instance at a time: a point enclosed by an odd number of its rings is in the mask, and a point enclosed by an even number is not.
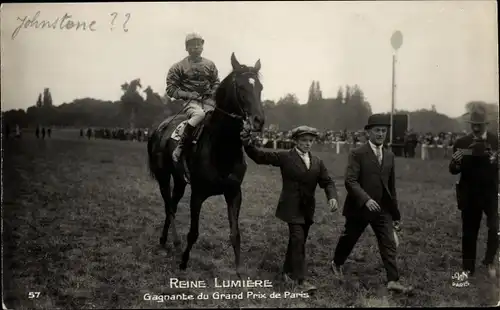
<svg viewBox="0 0 500 310"><path fill-rule="evenodd" d="M215 90L220 84L219 73L211 60L201 57L204 43L205 40L201 35L188 34L185 45L189 56L174 64L168 71L167 95L174 99L191 100L184 108L188 121L172 154L174 162L180 159L184 146L191 140L196 125L203 121L204 103L207 103L208 108L215 104ZM200 98L201 96L204 98Z"/></svg>

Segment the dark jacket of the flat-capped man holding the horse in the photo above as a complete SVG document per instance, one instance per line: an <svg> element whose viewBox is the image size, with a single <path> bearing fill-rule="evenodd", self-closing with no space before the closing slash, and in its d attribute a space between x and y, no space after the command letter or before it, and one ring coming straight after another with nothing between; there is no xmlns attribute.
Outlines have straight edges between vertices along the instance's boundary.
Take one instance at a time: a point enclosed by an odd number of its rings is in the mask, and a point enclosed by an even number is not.
<svg viewBox="0 0 500 310"><path fill-rule="evenodd" d="M280 167L283 187L276 209L276 217L279 219L292 224L313 223L317 185L325 190L328 200L337 199L335 183L319 157L309 153L311 165L307 170L295 148L290 151L267 152L250 145L245 147L245 151L259 165Z"/></svg>

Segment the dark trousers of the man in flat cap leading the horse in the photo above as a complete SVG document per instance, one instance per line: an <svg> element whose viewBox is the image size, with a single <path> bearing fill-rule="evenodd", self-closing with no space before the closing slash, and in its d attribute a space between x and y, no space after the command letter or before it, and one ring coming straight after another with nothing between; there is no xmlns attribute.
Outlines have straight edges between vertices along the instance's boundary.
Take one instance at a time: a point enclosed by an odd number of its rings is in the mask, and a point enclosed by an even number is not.
<svg viewBox="0 0 500 310"><path fill-rule="evenodd" d="M288 248L286 251L283 272L292 279L302 282L306 275L306 240L311 223L288 223Z"/></svg>

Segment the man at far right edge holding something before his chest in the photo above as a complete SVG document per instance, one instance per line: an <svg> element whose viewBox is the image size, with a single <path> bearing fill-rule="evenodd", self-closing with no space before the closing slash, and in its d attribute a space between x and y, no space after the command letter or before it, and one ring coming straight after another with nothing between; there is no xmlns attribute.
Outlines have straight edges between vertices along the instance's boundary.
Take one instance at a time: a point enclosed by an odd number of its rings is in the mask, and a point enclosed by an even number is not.
<svg viewBox="0 0 500 310"><path fill-rule="evenodd" d="M460 173L456 194L462 211L462 267L469 275L474 274L477 236L484 212L488 241L483 265L494 277L498 250L498 137L486 130L483 106L475 107L469 117L472 132L455 142L449 166L451 174Z"/></svg>

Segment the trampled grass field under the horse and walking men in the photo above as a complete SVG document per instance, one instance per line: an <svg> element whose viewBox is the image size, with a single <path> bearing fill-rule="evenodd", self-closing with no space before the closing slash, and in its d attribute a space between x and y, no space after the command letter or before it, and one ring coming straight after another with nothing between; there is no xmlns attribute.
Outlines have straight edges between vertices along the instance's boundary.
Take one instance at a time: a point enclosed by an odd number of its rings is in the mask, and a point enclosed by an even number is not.
<svg viewBox="0 0 500 310"><path fill-rule="evenodd" d="M4 142L4 300L14 309L220 308L220 307L420 307L485 306L497 303L498 279L478 270L468 287L453 287L460 271L460 214L454 202L455 177L447 161L398 158L397 191L403 216L398 265L413 296L385 289L385 271L370 230L346 264L347 283L334 280L329 261L344 218L329 212L317 191L316 224L307 244L309 279L319 289L310 298L270 299L289 291L276 275L281 269L288 228L274 217L281 189L279 169L256 166L243 183L240 215L242 259L252 279L272 289L248 289L267 299L214 300L215 288L175 289L169 279L235 279L227 211L222 197L202 209L200 237L188 270L178 269L180 253L169 242L158 246L164 220L157 184L147 173L146 144L78 139L77 132L54 132L51 140L33 135ZM318 153L345 199L346 158ZM177 213L185 245L189 229L189 187ZM478 243L484 254L485 224ZM171 240L171 239L170 239ZM170 241L169 240L169 241ZM29 298L29 292L40 292ZM207 293L208 300L156 302L150 294ZM238 293L219 289L222 293ZM246 294L246 293L245 293Z"/></svg>

